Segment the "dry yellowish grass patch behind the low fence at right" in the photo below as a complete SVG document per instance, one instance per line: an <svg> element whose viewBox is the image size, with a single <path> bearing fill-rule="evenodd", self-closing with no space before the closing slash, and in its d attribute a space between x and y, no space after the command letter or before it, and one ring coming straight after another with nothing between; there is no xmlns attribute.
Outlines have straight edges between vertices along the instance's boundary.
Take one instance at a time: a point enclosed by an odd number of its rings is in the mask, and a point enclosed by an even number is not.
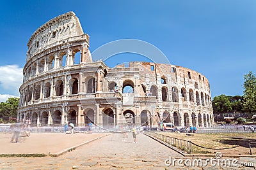
<svg viewBox="0 0 256 170"><path fill-rule="evenodd" d="M248 155L250 153L249 143L250 139L256 139L256 133L205 133L194 134L188 136L185 133L171 133L171 132L159 132L166 136L173 138L184 139L195 143L196 145L203 146L198 147L193 145L192 153L226 153L237 155ZM232 137L246 138L246 139L232 139ZM236 147L237 146L237 147ZM178 147L177 147L178 148ZM211 148L211 149L206 149ZM180 148L184 150L184 148ZM252 155L256 155L256 143L252 143Z"/></svg>

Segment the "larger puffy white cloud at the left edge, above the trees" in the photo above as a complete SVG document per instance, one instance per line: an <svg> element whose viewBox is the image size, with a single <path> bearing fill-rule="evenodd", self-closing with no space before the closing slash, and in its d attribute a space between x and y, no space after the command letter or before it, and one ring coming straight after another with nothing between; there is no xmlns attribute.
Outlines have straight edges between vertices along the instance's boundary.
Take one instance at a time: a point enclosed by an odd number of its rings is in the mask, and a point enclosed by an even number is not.
<svg viewBox="0 0 256 170"><path fill-rule="evenodd" d="M0 66L0 87L8 94L19 94L19 87L22 84L22 68L17 65ZM0 90L1 90L0 89Z"/></svg>

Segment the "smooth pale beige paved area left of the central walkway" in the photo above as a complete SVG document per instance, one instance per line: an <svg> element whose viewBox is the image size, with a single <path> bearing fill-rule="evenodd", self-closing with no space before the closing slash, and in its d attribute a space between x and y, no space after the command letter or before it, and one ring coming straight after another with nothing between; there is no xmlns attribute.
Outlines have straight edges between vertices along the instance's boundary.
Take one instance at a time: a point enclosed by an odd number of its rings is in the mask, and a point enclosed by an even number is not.
<svg viewBox="0 0 256 170"><path fill-rule="evenodd" d="M0 134L0 154L10 153L59 153L66 148L90 141L106 133L93 134L64 134L64 133L31 133L30 137L24 137L20 143L10 143L12 134ZM22 141L22 142L21 142Z"/></svg>

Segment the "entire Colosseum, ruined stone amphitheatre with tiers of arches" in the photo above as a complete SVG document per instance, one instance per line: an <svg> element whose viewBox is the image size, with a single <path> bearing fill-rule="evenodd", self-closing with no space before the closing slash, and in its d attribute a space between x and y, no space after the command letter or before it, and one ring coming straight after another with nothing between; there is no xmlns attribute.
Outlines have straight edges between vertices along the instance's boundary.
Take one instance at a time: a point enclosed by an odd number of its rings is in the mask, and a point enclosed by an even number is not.
<svg viewBox="0 0 256 170"><path fill-rule="evenodd" d="M17 118L35 126L73 123L214 126L209 81L172 64L93 61L90 38L72 11L39 27L28 41Z"/></svg>

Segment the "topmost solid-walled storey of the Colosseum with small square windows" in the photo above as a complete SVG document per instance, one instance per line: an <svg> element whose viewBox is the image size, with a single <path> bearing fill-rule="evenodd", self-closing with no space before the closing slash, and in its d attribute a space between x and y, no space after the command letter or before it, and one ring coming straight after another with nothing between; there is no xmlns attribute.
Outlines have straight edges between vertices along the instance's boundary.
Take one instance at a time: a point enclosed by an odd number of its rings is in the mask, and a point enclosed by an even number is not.
<svg viewBox="0 0 256 170"><path fill-rule="evenodd" d="M72 11L49 20L39 27L28 41L27 61L36 54L77 39L89 45L89 36L84 34L79 19Z"/></svg>

